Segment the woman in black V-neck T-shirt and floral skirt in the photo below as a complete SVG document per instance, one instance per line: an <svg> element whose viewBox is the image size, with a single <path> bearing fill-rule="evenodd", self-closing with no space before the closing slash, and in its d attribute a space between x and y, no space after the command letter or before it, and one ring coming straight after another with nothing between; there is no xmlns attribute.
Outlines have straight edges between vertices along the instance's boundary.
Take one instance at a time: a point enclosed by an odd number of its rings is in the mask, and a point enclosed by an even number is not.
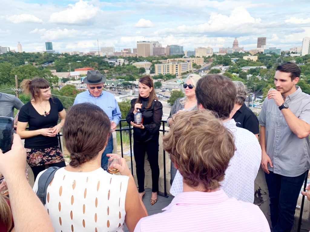
<svg viewBox="0 0 310 232"><path fill-rule="evenodd" d="M66 111L58 98L51 97L46 79L24 79L21 86L26 94L31 94L31 100L20 109L16 133L25 139L27 162L36 179L45 165L66 166L56 136L64 124ZM27 125L29 130L26 130Z"/></svg>

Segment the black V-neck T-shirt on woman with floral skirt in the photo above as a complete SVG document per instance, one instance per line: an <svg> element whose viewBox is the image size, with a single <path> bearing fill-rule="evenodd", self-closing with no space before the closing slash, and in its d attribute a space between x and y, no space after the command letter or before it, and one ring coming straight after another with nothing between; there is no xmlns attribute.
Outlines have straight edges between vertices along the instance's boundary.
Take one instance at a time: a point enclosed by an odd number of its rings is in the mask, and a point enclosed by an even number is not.
<svg viewBox="0 0 310 232"><path fill-rule="evenodd" d="M28 122L29 131L39 130L42 128L50 128L57 125L58 122L58 112L64 109L61 101L56 98L50 98L51 110L50 114L44 116L38 113L37 110L33 108L31 102L27 102L21 109L18 115L18 121ZM44 135L37 135L34 137L25 139L25 148L32 149L43 149L58 146L57 137L49 137Z"/></svg>

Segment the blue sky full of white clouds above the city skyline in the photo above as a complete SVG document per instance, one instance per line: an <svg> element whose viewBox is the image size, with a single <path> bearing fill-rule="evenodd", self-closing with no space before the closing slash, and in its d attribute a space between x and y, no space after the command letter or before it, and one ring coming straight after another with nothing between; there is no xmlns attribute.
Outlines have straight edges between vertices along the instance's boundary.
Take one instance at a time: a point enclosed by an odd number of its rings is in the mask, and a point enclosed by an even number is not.
<svg viewBox="0 0 310 232"><path fill-rule="evenodd" d="M141 40L184 50L210 46L288 50L310 37L309 0L0 0L0 46L17 51L89 51L134 48Z"/></svg>

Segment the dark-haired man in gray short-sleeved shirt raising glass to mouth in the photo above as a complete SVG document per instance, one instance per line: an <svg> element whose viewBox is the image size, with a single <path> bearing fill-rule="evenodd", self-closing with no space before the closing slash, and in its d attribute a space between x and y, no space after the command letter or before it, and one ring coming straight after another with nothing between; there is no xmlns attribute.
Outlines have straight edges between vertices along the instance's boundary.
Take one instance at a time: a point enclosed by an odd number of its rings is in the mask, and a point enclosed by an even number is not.
<svg viewBox="0 0 310 232"><path fill-rule="evenodd" d="M279 65L259 114L261 165L270 197L273 231L290 231L300 188L310 167L310 96L296 86L300 68Z"/></svg>

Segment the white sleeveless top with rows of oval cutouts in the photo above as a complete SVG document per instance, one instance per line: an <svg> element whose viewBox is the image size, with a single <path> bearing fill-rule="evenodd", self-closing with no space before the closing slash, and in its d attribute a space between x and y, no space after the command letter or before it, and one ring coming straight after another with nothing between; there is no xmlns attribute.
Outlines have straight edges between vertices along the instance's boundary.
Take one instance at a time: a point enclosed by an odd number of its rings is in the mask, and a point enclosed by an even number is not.
<svg viewBox="0 0 310 232"><path fill-rule="evenodd" d="M35 192L43 172L34 183ZM102 168L91 172L57 170L47 187L45 204L55 231L122 232L128 180Z"/></svg>

